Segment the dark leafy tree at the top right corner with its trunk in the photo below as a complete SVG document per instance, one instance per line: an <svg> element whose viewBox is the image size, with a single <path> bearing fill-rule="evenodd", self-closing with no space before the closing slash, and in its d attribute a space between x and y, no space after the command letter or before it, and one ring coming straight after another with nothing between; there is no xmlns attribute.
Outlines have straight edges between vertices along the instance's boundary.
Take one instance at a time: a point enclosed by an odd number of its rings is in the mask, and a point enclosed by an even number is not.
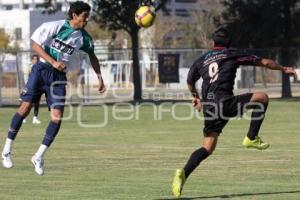
<svg viewBox="0 0 300 200"><path fill-rule="evenodd" d="M282 64L293 63L290 48L300 44L300 0L226 0L223 19L242 48L282 49ZM282 97L291 97L290 79L282 74Z"/></svg>

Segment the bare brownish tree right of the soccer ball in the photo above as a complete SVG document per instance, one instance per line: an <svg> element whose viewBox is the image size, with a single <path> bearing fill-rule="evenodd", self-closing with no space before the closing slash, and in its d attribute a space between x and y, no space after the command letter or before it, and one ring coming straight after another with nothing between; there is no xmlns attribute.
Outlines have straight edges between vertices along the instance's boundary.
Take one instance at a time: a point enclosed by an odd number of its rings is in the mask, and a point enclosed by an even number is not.
<svg viewBox="0 0 300 200"><path fill-rule="evenodd" d="M184 16L158 16L160 20L153 26L154 47L211 48L215 21L220 17L223 5L218 0L201 0L193 3L193 7L195 9L189 9ZM159 13L162 14L166 15Z"/></svg>

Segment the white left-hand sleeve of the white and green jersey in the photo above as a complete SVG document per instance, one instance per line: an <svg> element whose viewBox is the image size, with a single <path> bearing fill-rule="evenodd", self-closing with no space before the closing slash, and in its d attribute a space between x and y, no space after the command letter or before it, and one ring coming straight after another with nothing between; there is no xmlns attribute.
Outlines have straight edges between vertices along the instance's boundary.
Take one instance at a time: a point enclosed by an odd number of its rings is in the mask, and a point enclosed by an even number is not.
<svg viewBox="0 0 300 200"><path fill-rule="evenodd" d="M55 23L43 23L32 34L31 39L43 46L47 43L48 39L51 39L57 33L58 26Z"/></svg>

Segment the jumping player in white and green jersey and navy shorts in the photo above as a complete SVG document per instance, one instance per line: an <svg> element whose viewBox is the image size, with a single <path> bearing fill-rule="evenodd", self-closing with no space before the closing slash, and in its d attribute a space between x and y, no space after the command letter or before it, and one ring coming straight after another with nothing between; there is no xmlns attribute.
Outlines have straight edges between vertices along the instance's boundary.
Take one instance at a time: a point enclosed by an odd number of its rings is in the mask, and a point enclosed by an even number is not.
<svg viewBox="0 0 300 200"><path fill-rule="evenodd" d="M64 111L66 95L66 70L74 52L85 51L91 65L98 75L99 92L105 91L100 65L94 54L91 36L84 30L88 23L91 7L82 1L71 3L68 12L69 20L54 21L42 24L35 30L32 49L41 57L41 61L32 67L26 88L21 95L22 103L13 116L8 136L2 151L2 164L5 168L13 167L11 159L12 144L28 115L32 104L45 93L51 121L46 129L42 144L32 157L35 172L44 174L44 154L57 135Z"/></svg>

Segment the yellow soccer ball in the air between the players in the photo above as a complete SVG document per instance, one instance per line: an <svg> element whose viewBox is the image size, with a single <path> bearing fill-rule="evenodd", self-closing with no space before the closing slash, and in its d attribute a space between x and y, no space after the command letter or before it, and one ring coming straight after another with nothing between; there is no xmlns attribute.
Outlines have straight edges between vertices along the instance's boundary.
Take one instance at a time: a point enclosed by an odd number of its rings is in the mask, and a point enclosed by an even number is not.
<svg viewBox="0 0 300 200"><path fill-rule="evenodd" d="M135 12L135 22L137 25L147 28L152 25L155 19L155 8L153 6L141 6Z"/></svg>

